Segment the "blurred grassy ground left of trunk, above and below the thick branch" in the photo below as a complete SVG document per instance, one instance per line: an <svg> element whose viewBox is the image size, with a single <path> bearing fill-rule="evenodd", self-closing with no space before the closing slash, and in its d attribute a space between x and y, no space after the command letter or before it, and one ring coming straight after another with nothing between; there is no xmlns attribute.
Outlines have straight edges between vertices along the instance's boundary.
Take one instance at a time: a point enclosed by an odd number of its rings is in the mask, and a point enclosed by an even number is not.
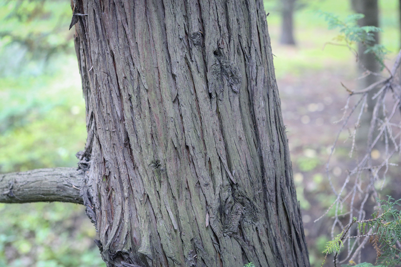
<svg viewBox="0 0 401 267"><path fill-rule="evenodd" d="M85 146L85 103L74 55L52 71L0 78L0 172L75 167ZM105 266L81 205L0 204L0 266Z"/></svg>

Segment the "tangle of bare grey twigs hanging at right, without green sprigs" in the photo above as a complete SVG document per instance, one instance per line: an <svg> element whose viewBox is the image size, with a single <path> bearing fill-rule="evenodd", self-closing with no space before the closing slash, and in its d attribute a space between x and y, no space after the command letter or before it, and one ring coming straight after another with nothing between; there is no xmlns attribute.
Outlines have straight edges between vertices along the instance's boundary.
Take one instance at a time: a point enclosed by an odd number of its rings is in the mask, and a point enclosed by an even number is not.
<svg viewBox="0 0 401 267"><path fill-rule="evenodd" d="M349 96L347 97L342 118L339 120L342 121L340 131L334 140L334 144L328 157L328 163L326 164L326 174L330 183L330 187L336 195L336 200L320 217L322 218L329 212L329 210L335 208L331 235L334 237L334 231L337 229L337 227L344 229L341 242L344 242L343 245L346 247L347 251L346 257L341 262L347 260L353 261L354 259L360 260L361 249L369 241L370 236L376 235L372 234L376 233L373 231L373 229L369 229L367 232L365 232L366 234L361 233L357 235L351 235L350 231L348 230L356 222L364 223L370 221L365 220L365 205L372 196L379 197L378 190L384 186L389 166L396 165L390 162L391 157L396 152L401 153L401 87L399 85L399 81L401 80L399 77L401 75L400 66L401 51L397 55L391 71L389 68L385 67L385 69L387 69L389 72L389 77L381 79L380 81L369 85L365 89L358 91L352 91L342 84L342 86L349 93ZM365 74L379 76L379 74L371 72L366 72ZM347 172L342 186L339 190L337 190L333 186L329 170L330 160L334 154L334 148L338 142L340 133L348 127L347 125L350 123L351 118L355 118L356 122L354 123L353 129L350 131L352 145L349 156L352 157L355 149L355 136L360 129L359 125L361 123L361 117L365 110L365 106L367 105L368 93L375 90L379 86L381 86L381 88L372 97L372 99L375 100L375 105L373 108L369 131L363 133L367 134L366 150L364 154L356 155L355 167ZM387 96L389 93L392 93L391 99L393 101L393 103L390 105L390 112L387 111L387 106L389 104L389 97ZM350 98L354 95L360 95L360 97L357 99L356 103L352 105L352 107L349 107ZM360 107L360 111L356 113L355 111L358 107ZM383 142L383 146L379 146L379 142L381 142L381 140ZM378 151L379 149L381 152ZM372 157L374 153L376 153L376 155ZM379 156L377 156L377 153L379 153ZM383 184L378 186L377 182ZM378 208L380 208L380 203L376 203L376 205ZM344 210L344 207L346 207L346 210ZM358 217L358 221L353 219L355 216ZM343 221L346 218L348 218L348 224L344 227L345 223L343 224ZM315 222L317 220L315 220ZM357 229L357 231L360 233L359 229ZM350 242L351 239L354 241ZM399 244L399 246L401 247L401 244ZM335 266L337 266L337 258L338 253L336 253L334 256Z"/></svg>

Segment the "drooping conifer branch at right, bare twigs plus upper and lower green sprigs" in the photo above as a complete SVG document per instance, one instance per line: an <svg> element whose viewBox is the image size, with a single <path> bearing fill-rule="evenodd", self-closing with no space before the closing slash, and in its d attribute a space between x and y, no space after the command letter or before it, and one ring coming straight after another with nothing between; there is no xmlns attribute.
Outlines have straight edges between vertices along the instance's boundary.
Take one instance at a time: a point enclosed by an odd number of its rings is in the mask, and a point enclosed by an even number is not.
<svg viewBox="0 0 401 267"><path fill-rule="evenodd" d="M388 77L382 77L382 74L374 73L361 66L362 69L365 69L365 73L360 78L375 75L382 79L360 90L351 90L343 85L348 92L348 98L342 118L338 121L342 122L340 131L334 140L326 164L326 174L336 200L320 217L322 218L331 209L334 209L334 221L331 227L333 240L327 244L328 247L324 251L325 259L329 253L335 252L334 265L337 266L338 253L341 248L344 248L342 253L345 255L339 263L360 262L361 251L369 242L376 250L377 263L399 264L401 215L395 208L399 201L393 201L390 196L388 200L379 200L379 193L385 185L386 174L390 166L397 166L393 162L393 157L401 154L401 51L390 69L384 64L386 50L382 46L369 45L372 43L372 36L369 35L369 32L380 31L379 28L357 26L356 20L360 18L360 14L352 15L345 21L339 20L332 14L323 12L322 14L328 20L329 28L340 28L340 36L337 39L345 42L340 45L348 47L358 58L358 54L352 49L351 44L354 42L364 44L368 47L366 53L373 53L383 69L389 73ZM360 61L358 62L361 64ZM372 92L375 92L373 97L371 96ZM368 100L370 100L368 97L374 101L371 122L366 133L359 133L361 118L367 109ZM354 167L347 171L340 189L336 189L330 176L330 161L340 133L345 129L348 129L349 139L352 142L349 156L355 158L355 163ZM365 134L367 137L365 149L361 150L359 147L359 154L355 153L357 145L360 146L356 142L356 134ZM378 152L379 156L372 156ZM367 216L370 214L366 214L365 206L372 197L377 199L375 203L377 211L373 214L373 218L369 218ZM346 223L347 218L348 222ZM334 235L338 230L341 233ZM357 266L373 265L360 263Z"/></svg>

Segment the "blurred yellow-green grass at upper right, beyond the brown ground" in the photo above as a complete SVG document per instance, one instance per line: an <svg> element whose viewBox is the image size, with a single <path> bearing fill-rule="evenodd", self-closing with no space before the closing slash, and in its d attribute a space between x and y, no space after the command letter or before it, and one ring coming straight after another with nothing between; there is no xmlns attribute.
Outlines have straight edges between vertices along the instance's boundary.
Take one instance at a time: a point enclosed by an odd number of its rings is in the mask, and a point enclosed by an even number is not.
<svg viewBox="0 0 401 267"><path fill-rule="evenodd" d="M344 47L325 45L338 35L336 30L328 30L327 23L318 10L331 12L340 18L352 14L349 0L310 0L306 7L298 10L294 16L294 37L296 47L279 44L281 31L281 14L276 0L265 0L267 25L274 57L277 79L288 73L299 76L308 71L349 69L354 74L355 57ZM396 0L379 0L381 43L384 44L393 58L400 49L399 8Z"/></svg>

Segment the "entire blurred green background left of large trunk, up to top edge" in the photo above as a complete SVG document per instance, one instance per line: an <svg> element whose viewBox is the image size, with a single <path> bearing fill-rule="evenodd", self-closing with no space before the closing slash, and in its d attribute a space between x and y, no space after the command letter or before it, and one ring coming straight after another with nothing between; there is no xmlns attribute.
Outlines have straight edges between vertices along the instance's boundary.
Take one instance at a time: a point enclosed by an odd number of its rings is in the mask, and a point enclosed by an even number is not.
<svg viewBox="0 0 401 267"><path fill-rule="evenodd" d="M64 0L0 0L0 173L77 166L86 124L71 13ZM0 218L0 267L105 266L81 205L0 204Z"/></svg>

